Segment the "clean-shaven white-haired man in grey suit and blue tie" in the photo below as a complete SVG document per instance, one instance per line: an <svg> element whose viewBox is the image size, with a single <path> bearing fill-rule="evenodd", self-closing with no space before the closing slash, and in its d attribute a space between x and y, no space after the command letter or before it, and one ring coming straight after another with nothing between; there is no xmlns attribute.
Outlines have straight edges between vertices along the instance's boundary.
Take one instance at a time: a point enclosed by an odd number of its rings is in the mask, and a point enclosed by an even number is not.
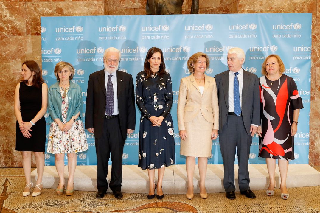
<svg viewBox="0 0 320 213"><path fill-rule="evenodd" d="M242 68L245 55L241 48L228 51L229 70L214 76L219 102L219 140L223 158L223 185L228 199L235 199L234 162L237 150L239 189L248 198L256 198L250 190L248 160L252 136L260 119L260 97L257 75Z"/></svg>

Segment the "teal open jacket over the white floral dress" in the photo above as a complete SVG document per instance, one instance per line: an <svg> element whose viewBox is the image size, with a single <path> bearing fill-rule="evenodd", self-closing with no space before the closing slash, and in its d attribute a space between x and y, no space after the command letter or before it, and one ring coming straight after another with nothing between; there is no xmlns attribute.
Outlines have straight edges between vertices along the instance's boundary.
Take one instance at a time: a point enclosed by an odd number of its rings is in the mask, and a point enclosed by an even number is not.
<svg viewBox="0 0 320 213"><path fill-rule="evenodd" d="M48 122L52 123L54 119L59 118L62 122L61 115L61 104L62 97L60 94L59 81L55 84L52 84L48 89L48 111L49 118ZM67 111L67 122L70 121L71 117L80 112L77 120L82 120L82 90L81 87L70 81L70 86L68 90L68 111Z"/></svg>

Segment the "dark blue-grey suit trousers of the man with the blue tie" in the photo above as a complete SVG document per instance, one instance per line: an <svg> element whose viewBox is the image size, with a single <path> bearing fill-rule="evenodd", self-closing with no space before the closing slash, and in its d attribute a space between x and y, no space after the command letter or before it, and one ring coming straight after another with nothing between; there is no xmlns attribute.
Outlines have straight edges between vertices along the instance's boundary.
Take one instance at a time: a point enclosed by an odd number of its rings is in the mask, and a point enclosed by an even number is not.
<svg viewBox="0 0 320 213"><path fill-rule="evenodd" d="M235 155L236 150L239 162L239 190L250 190L250 178L248 170L248 160L250 146L252 143L251 135L248 135L242 116L228 115L227 123L219 130L220 149L223 158L224 178L223 185L226 192L235 191Z"/></svg>

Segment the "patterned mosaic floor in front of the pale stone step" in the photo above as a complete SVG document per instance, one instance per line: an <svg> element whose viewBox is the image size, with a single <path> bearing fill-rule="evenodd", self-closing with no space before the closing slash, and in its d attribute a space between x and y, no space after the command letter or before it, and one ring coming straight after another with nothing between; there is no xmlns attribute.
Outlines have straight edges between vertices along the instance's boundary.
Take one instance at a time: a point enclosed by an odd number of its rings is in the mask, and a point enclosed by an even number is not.
<svg viewBox="0 0 320 213"><path fill-rule="evenodd" d="M320 167L315 167L318 171ZM193 200L184 194L170 194L161 201L148 200L146 194L124 193L123 199L115 199L108 193L96 199L95 192L75 191L73 196L56 195L54 189L43 189L37 197L22 196L25 186L22 169L0 169L0 212L310 212L320 213L320 186L290 188L290 198L282 200L280 189L269 197L264 190L254 191L257 198L249 199L236 192L235 200L228 200L225 193L210 193L208 199L195 194ZM34 189L34 188L32 188ZM164 189L165 193L165 189Z"/></svg>

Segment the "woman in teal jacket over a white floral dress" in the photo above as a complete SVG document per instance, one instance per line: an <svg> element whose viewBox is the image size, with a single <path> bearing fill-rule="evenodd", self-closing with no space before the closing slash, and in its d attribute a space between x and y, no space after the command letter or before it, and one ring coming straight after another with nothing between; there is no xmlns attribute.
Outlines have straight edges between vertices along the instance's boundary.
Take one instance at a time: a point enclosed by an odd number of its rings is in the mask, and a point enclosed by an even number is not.
<svg viewBox="0 0 320 213"><path fill-rule="evenodd" d="M82 91L78 84L71 81L75 69L70 63L57 63L54 75L58 82L48 90L49 122L52 123L47 152L55 154L55 165L60 179L57 195L63 194L64 191L64 155L67 153L69 179L66 194L72 195L77 165L76 153L88 149L82 122Z"/></svg>

